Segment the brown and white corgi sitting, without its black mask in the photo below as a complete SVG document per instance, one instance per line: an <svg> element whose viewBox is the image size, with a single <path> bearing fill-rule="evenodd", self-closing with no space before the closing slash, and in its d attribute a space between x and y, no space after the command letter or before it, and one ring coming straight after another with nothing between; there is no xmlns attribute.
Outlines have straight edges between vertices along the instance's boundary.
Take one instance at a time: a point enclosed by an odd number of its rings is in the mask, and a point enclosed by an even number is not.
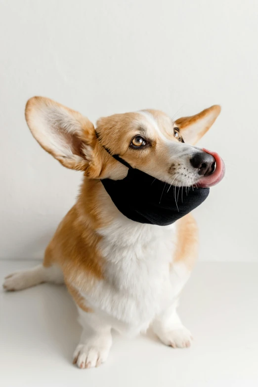
<svg viewBox="0 0 258 387"><path fill-rule="evenodd" d="M194 144L219 113L215 105L172 122L161 111L141 110L101 118L96 130L105 146L134 168L177 186L211 186L223 177L221 169L206 173L205 160L201 165L190 160L197 150L203 152ZM10 274L3 287L11 291L65 282L83 327L74 352L80 368L107 359L112 328L137 334L151 325L164 344L188 347L192 336L176 304L197 257L192 215L169 226L128 219L100 181L123 179L128 168L106 152L86 117L48 98L33 97L26 105L26 120L40 145L65 167L83 171L84 180L76 204L46 248L43 264ZM221 159L213 155L219 164Z"/></svg>

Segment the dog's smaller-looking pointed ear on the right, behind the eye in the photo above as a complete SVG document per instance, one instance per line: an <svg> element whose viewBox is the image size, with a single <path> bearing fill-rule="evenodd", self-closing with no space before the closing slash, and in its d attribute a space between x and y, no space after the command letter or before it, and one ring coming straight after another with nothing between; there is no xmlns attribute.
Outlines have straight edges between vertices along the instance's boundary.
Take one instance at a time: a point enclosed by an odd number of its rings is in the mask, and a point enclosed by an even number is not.
<svg viewBox="0 0 258 387"><path fill-rule="evenodd" d="M182 117L175 121L174 128L179 128L185 142L196 144L211 128L220 113L220 106L214 105L191 117Z"/></svg>

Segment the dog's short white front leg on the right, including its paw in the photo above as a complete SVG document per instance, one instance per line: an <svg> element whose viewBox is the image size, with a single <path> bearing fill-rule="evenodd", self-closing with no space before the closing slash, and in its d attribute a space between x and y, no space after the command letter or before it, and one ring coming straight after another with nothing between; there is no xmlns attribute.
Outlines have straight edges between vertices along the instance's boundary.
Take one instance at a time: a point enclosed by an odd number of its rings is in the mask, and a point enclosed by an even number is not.
<svg viewBox="0 0 258 387"><path fill-rule="evenodd" d="M173 348L185 348L193 340L191 333L186 329L176 312L177 302L164 310L153 321L152 328L158 338L166 345Z"/></svg>

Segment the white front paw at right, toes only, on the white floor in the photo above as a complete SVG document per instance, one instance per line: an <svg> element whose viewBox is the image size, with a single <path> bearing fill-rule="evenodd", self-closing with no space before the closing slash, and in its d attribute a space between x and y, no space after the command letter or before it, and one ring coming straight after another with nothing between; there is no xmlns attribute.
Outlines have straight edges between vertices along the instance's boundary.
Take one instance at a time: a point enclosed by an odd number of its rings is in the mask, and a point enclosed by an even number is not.
<svg viewBox="0 0 258 387"><path fill-rule="evenodd" d="M173 348L187 348L191 345L193 337L183 325L168 332L159 333L160 340Z"/></svg>

